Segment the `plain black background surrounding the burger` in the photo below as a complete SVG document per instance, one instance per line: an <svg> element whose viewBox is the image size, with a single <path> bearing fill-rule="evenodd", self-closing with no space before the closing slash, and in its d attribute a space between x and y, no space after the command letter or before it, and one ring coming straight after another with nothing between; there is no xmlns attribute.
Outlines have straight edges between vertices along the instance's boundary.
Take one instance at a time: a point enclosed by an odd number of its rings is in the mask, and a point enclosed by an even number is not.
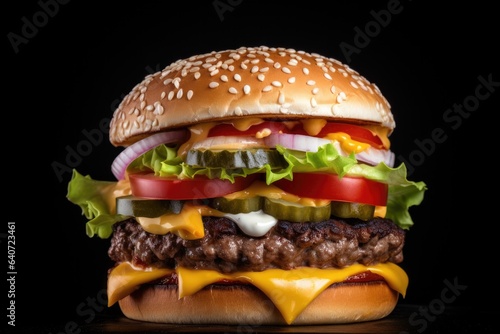
<svg viewBox="0 0 500 334"><path fill-rule="evenodd" d="M121 148L109 143L105 124L136 83L179 58L259 45L336 58L375 82L391 103L397 122L392 150L412 165L410 179L428 186L423 203L410 209L415 225L407 233L401 264L410 285L400 303L443 300L447 281L461 286L447 307L498 310L493 271L500 213L494 136L500 29L491 5L436 7L409 0L104 4L4 5L7 76L0 121L7 214L0 240L6 268L6 226L15 221L18 326L33 325L34 319L88 323L94 315L118 313L102 305L109 241L86 236L80 208L65 198L70 173L54 166L72 163L82 174L113 180L110 165ZM492 82L490 90L480 77ZM463 105L461 116L450 114L456 105ZM453 122L445 115L453 115ZM436 131L441 135L435 137ZM86 132L103 138L94 137L81 160L68 160L68 152L88 143Z"/></svg>

